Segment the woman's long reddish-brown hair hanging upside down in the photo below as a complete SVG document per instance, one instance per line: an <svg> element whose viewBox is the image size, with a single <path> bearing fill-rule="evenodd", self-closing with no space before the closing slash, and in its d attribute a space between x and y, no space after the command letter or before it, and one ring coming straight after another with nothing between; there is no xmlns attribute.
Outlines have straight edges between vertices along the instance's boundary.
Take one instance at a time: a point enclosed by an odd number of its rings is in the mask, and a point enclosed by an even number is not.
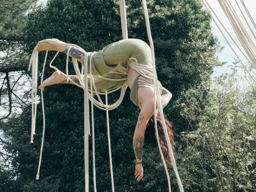
<svg viewBox="0 0 256 192"><path fill-rule="evenodd" d="M156 115L156 121L157 121L158 138L159 138L159 142L160 142L163 157L165 158L165 160L167 160L169 165L172 165L171 160L170 160L168 145L167 145L167 141L166 141L165 136L164 136L163 125L162 125L162 121L161 121L161 117L160 117L159 113ZM165 121L165 124L166 124L166 128L167 128L169 140L170 140L170 143L171 143L171 146L172 146L172 150L174 152L174 134L173 134L173 130L172 130L172 124L166 118L164 118L164 121ZM155 129L154 129L154 115L151 116L151 118L149 119L149 121L147 123L147 128L146 128L147 134L149 134L148 133L149 131L150 132L155 132ZM155 134L154 134L154 137L156 139Z"/></svg>

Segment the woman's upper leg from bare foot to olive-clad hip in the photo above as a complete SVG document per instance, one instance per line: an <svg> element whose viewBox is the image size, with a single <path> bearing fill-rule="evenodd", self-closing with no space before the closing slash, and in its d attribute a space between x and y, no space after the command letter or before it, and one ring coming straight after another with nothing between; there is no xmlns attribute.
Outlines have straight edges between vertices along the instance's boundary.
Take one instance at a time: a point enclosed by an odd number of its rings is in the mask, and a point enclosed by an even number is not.
<svg viewBox="0 0 256 192"><path fill-rule="evenodd" d="M71 45L57 39L45 39L38 42L37 51L55 50L67 54ZM83 63L86 52L78 46L69 50L69 56ZM92 56L92 74L104 75L113 70L115 66L129 57L135 57L139 63L151 62L150 47L139 39L123 39L113 42L97 51ZM88 66L89 67L89 66Z"/></svg>

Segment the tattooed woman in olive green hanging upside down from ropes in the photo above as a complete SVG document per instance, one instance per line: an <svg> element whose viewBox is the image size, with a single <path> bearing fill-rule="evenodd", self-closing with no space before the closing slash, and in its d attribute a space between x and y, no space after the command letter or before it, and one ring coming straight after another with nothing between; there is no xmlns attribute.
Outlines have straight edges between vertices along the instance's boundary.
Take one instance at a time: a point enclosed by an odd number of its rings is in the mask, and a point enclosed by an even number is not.
<svg viewBox="0 0 256 192"><path fill-rule="evenodd" d="M69 51L68 51L69 49ZM77 47L59 45L54 42L39 41L36 51L42 50L55 50L63 53L68 52L68 55L83 63L86 52ZM88 58L89 59L89 58ZM102 50L95 52L92 55L92 74L97 77L101 75L106 78L124 79L124 80L105 80L96 79L95 84L98 91L104 92L116 87L120 87L126 78L130 88L130 99L140 109L137 119L137 124L133 134L133 149L136 157L135 164L135 178L139 181L143 177L142 168L142 147L144 144L144 133L148 126L154 125L153 108L154 108L154 89L152 81L152 58L150 47L142 40L139 39L123 39L117 42L108 44ZM134 62L136 60L137 62ZM119 74L116 68L121 67L127 70L127 75ZM139 68L139 69L137 69ZM140 71L140 73L138 72ZM142 71L142 72L141 72ZM68 75L75 83L79 84L76 75ZM125 78L126 77L126 78ZM89 80L89 79L88 79ZM66 81L66 77L59 71L52 73L50 77L45 79L40 89L56 83L70 83ZM159 82L158 82L159 83ZM89 84L89 83L88 83ZM159 91L161 95L162 106L171 99L171 93L163 88L159 83ZM156 102L156 108L157 108ZM170 122L166 119L165 124L171 143L173 144L173 132ZM167 147L167 142L163 133L162 122L159 113L157 114L157 130L160 141L161 150L167 162L171 165L170 154Z"/></svg>

